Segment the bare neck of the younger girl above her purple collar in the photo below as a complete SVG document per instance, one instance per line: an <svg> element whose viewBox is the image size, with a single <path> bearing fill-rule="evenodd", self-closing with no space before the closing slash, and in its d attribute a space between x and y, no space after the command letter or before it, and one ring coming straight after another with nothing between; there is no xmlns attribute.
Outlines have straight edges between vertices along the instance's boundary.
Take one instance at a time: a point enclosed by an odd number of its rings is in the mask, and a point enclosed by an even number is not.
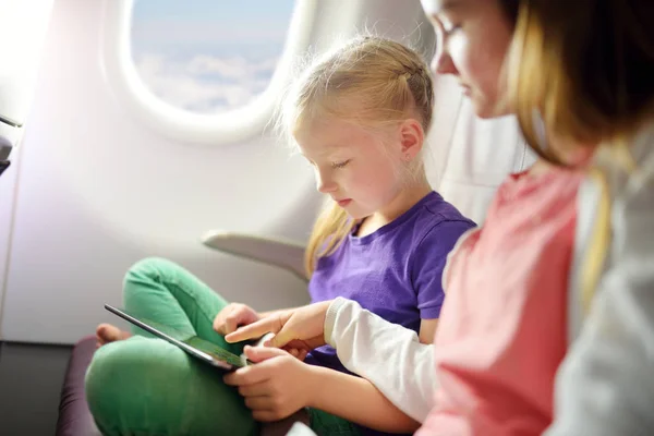
<svg viewBox="0 0 654 436"><path fill-rule="evenodd" d="M376 232L412 208L432 191L433 189L426 178L417 183L404 186L383 209L362 219L356 235L365 237Z"/></svg>

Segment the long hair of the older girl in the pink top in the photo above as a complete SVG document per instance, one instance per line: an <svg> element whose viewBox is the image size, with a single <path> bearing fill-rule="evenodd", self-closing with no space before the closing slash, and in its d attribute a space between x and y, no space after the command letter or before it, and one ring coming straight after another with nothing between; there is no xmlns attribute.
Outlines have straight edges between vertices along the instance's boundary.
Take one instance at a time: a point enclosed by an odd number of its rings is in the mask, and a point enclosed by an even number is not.
<svg viewBox="0 0 654 436"><path fill-rule="evenodd" d="M519 1L509 98L541 157L561 164L538 137L536 117L562 140L628 153L623 146L654 109L651 16L652 0Z"/></svg>

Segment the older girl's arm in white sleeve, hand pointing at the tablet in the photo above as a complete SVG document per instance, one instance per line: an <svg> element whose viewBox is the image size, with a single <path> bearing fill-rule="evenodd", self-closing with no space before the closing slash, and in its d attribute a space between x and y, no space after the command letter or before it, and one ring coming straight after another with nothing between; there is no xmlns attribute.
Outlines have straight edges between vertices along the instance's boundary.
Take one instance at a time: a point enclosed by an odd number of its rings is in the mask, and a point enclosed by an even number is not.
<svg viewBox="0 0 654 436"><path fill-rule="evenodd" d="M238 342L268 331L277 334L272 347L301 341L313 349L329 343L343 366L371 380L402 412L417 422L427 416L437 386L434 346L421 343L413 330L337 298L241 327L226 340Z"/></svg>

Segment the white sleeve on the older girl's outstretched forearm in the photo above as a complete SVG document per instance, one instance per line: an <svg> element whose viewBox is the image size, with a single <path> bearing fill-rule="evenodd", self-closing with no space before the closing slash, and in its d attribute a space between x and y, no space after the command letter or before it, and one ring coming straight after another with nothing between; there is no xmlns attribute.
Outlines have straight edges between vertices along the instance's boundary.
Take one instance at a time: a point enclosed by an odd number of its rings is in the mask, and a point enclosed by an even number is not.
<svg viewBox="0 0 654 436"><path fill-rule="evenodd" d="M424 421L437 388L433 344L342 298L327 310L325 340L343 366L371 380L402 412Z"/></svg>

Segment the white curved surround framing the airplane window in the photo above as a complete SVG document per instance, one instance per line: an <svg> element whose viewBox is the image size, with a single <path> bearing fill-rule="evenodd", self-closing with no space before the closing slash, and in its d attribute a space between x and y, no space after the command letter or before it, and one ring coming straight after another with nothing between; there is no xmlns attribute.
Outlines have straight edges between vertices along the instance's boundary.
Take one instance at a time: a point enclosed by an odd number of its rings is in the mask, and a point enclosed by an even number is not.
<svg viewBox="0 0 654 436"><path fill-rule="evenodd" d="M101 63L105 80L121 105L144 124L187 144L227 145L261 135L269 122L292 64L310 44L317 0L296 0L284 49L268 87L251 102L216 114L194 113L157 97L143 82L132 59L134 0L105 0Z"/></svg>

